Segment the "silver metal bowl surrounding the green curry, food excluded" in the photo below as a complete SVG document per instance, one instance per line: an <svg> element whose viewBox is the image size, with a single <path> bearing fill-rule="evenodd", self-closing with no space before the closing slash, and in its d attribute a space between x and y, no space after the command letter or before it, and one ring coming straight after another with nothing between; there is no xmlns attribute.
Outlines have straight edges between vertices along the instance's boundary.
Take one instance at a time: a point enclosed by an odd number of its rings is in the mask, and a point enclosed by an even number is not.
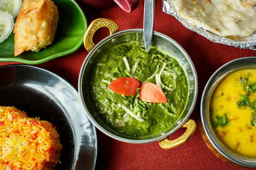
<svg viewBox="0 0 256 170"><path fill-rule="evenodd" d="M107 22L109 22L109 20L107 20ZM99 25L99 24L96 24L96 25ZM89 33L89 35L93 35L94 32L97 30L97 29L96 30L94 29L93 33L90 33L91 27L94 27L94 26L90 25L88 27L89 31L87 30L87 32ZM89 37L89 38L92 39L92 37ZM128 143L154 142L171 135L172 133L177 131L189 119L190 114L194 109L196 97L198 93L197 74L189 55L177 42L175 42L173 39L171 39L166 35L163 35L158 32L154 32L151 46L159 47L161 48L161 50L163 50L167 54L171 53L171 55L180 63L180 65L184 69L186 76L188 77L188 83L189 83L188 102L184 109L183 114L178 119L178 121L175 122L167 130L159 134L151 135L147 137L130 137L130 136L120 134L117 131L111 129L108 124L104 123L104 121L102 121L99 115L97 114L97 111L94 108L94 104L92 101L92 96L90 95L90 92L89 92L88 84L90 82L90 75L92 72L92 68L96 64L95 61L97 61L96 59L100 57L100 55L104 53L107 49L119 44L129 43L131 41L137 41L140 44L143 44L144 43L143 30L128 29L125 31L115 33L113 35L106 37L105 39L100 41L94 48L92 48L92 50L89 52L88 56L86 57L80 71L79 82L78 82L78 92L80 95L80 99L81 99L84 111L86 112L88 118L93 122L93 124L100 131L102 131L106 135L114 139L117 139L119 141L128 142ZM92 45L93 43L84 42L84 44ZM195 129L195 125L194 125L194 129ZM188 127L187 131L189 130L193 134L194 129ZM184 137L188 139L190 135L183 136L183 138Z"/></svg>

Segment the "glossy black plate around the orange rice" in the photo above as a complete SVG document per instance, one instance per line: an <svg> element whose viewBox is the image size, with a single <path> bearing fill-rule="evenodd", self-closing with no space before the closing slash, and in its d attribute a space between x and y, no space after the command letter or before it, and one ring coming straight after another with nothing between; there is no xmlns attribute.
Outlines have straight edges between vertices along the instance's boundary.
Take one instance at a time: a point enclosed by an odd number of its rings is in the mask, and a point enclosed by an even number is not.
<svg viewBox="0 0 256 170"><path fill-rule="evenodd" d="M54 170L94 169L96 129L75 88L60 76L30 65L0 66L0 106L14 106L29 117L56 126L63 146Z"/></svg>

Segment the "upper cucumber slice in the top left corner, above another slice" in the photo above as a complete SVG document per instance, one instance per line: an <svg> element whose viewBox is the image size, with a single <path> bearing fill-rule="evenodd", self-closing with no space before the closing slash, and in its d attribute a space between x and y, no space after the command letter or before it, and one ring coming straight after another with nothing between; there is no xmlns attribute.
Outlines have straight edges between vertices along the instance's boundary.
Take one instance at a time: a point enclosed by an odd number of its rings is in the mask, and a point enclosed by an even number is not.
<svg viewBox="0 0 256 170"><path fill-rule="evenodd" d="M9 12L13 18L19 14L22 0L0 0L0 12Z"/></svg>

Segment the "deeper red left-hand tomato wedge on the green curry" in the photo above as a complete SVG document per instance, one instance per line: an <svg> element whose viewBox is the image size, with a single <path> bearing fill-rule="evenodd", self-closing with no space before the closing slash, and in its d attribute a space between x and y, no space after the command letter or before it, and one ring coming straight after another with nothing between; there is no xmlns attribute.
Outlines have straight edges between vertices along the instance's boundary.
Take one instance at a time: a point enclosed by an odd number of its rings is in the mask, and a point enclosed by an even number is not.
<svg viewBox="0 0 256 170"><path fill-rule="evenodd" d="M111 82L108 87L119 95L134 96L137 88L140 88L140 82L136 78L120 77Z"/></svg>

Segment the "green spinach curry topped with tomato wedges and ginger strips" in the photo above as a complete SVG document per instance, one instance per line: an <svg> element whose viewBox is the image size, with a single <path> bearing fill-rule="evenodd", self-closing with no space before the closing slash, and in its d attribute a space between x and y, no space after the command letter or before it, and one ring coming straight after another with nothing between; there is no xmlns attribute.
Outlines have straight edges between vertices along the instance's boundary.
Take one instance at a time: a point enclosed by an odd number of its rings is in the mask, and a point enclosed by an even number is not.
<svg viewBox="0 0 256 170"><path fill-rule="evenodd" d="M171 127L188 99L178 61L151 47L120 44L99 57L89 91L98 114L119 133L149 136Z"/></svg>

